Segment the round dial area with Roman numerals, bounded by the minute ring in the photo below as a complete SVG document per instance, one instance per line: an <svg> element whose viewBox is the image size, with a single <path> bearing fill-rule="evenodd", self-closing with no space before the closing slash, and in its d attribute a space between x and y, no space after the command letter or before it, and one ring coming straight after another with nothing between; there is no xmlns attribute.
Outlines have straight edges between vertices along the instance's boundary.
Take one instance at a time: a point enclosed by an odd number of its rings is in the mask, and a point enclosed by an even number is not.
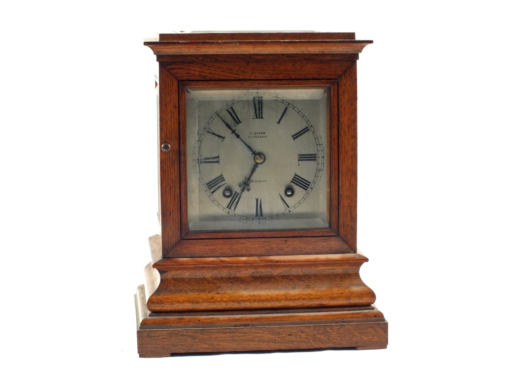
<svg viewBox="0 0 508 381"><path fill-rule="evenodd" d="M193 165L208 198L247 223L283 218L305 202L324 165L310 120L277 94L249 91L210 116Z"/></svg>

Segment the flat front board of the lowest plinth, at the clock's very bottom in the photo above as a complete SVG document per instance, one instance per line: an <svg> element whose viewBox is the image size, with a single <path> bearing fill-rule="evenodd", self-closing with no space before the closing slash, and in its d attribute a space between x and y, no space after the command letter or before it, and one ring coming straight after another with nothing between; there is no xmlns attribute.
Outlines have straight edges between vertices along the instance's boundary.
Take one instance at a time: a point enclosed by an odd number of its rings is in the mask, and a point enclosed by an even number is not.
<svg viewBox="0 0 508 381"><path fill-rule="evenodd" d="M288 351L312 349L382 349L388 323L311 324L300 326L138 330L139 357L175 354Z"/></svg>

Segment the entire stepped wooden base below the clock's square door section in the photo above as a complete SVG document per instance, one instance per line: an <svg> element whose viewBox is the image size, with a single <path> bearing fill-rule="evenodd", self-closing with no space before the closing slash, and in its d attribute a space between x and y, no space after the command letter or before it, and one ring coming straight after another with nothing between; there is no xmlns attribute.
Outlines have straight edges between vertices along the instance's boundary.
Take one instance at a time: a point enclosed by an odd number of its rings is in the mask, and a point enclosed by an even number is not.
<svg viewBox="0 0 508 381"><path fill-rule="evenodd" d="M140 357L388 345L360 253L162 259L160 236L149 242L135 295Z"/></svg>

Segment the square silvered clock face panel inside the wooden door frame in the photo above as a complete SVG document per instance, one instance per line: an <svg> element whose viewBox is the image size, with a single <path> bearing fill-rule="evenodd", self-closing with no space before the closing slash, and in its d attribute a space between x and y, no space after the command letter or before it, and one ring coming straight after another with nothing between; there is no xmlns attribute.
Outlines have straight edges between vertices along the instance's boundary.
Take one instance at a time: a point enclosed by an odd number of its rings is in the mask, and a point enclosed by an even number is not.
<svg viewBox="0 0 508 381"><path fill-rule="evenodd" d="M329 228L328 94L187 88L189 231Z"/></svg>

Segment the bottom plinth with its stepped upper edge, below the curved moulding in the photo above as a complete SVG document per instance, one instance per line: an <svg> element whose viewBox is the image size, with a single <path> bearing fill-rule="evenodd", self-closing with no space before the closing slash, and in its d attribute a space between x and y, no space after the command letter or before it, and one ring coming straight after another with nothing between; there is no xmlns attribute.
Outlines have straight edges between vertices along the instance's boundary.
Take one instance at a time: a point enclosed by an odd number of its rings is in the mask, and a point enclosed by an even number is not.
<svg viewBox="0 0 508 381"><path fill-rule="evenodd" d="M388 322L373 305L150 313L141 285L136 313L140 357L388 345Z"/></svg>

